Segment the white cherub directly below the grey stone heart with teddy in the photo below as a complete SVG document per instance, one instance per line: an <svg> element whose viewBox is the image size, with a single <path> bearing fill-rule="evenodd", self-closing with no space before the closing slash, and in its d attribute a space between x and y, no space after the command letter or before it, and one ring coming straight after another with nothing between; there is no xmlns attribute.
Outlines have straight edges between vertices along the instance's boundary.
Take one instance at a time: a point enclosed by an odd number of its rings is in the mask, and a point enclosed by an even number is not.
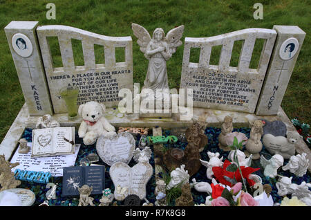
<svg viewBox="0 0 311 220"><path fill-rule="evenodd" d="M275 154L270 160L261 155L261 165L265 168L263 174L271 178L276 177L279 167L283 166L284 158L280 154Z"/></svg>

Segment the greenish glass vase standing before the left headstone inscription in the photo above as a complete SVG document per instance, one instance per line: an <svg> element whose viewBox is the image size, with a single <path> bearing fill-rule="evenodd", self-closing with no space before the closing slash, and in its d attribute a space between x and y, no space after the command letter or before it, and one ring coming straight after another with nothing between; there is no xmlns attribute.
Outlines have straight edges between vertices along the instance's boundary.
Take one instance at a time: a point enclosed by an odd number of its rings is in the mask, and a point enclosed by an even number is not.
<svg viewBox="0 0 311 220"><path fill-rule="evenodd" d="M66 102L68 120L75 120L77 118L77 97L79 88L77 86L65 86L59 93Z"/></svg>

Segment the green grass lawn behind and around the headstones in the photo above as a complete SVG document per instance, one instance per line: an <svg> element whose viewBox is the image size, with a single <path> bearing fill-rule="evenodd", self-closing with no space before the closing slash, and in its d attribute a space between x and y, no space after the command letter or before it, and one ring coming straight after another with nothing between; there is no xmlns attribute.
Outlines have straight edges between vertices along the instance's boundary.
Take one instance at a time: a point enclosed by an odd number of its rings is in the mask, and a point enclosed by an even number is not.
<svg viewBox="0 0 311 220"><path fill-rule="evenodd" d="M46 4L56 5L56 19L46 19ZM254 3L263 4L263 20L255 20ZM193 1L26 1L0 0L0 141L6 135L15 120L24 100L19 79L10 53L3 28L10 21L39 21L40 25L59 24L73 26L93 33L108 36L131 36L133 38L133 73L134 82L141 85L147 73L148 60L140 52L136 37L131 30L131 23L146 28L149 33L157 27L167 33L175 26L185 25L185 37L211 37L244 28L272 28L274 25L299 26L307 33L296 66L292 73L288 89L283 98L282 107L289 118L298 117L301 122L310 120L311 91L311 5L310 1L268 1L268 0L193 0ZM53 43L52 43L53 44ZM75 45L75 44L74 44ZM235 45L234 51L239 46ZM77 51L81 50L79 45ZM258 60L261 45L255 47L254 62ZM100 48L96 49L98 52ZM75 48L74 48L75 50ZM95 51L95 54L97 54ZM217 52L220 52L220 48ZM59 56L59 50L53 49ZM179 88L182 69L183 46L180 46L167 62L170 88ZM236 65L239 53L234 53L232 64ZM97 57L102 59L102 57ZM211 63L217 62L217 58ZM77 62L82 61L82 55ZM55 64L60 59L55 59ZM252 61L253 62L253 61ZM251 64L252 66L252 64Z"/></svg>

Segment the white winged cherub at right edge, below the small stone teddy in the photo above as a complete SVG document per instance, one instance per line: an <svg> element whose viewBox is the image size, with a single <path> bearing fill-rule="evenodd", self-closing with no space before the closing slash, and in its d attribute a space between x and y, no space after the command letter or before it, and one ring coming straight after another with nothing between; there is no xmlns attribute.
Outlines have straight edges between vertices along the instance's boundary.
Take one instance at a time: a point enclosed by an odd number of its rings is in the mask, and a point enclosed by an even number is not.
<svg viewBox="0 0 311 220"><path fill-rule="evenodd" d="M291 173L296 176L303 176L307 173L309 160L306 158L307 154L298 154L296 156L291 156L290 161L287 165L283 166L283 170L290 170Z"/></svg>

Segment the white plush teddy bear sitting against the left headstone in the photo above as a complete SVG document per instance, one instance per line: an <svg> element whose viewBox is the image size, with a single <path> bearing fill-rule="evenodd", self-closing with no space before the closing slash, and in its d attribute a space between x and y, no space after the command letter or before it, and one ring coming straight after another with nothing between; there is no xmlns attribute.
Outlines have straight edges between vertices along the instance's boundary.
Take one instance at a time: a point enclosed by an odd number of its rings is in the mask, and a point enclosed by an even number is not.
<svg viewBox="0 0 311 220"><path fill-rule="evenodd" d="M105 110L104 104L93 101L79 106L78 113L83 120L78 135L79 138L83 138L84 145L93 145L102 135L113 136L116 134L115 127L103 116Z"/></svg>

